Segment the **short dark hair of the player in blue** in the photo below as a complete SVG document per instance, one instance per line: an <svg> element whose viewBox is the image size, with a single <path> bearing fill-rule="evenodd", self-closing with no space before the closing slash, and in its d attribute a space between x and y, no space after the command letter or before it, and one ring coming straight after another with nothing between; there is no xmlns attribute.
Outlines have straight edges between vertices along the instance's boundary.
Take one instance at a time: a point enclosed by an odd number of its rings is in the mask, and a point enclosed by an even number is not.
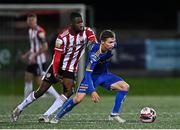
<svg viewBox="0 0 180 130"><path fill-rule="evenodd" d="M103 30L100 34L100 40L105 41L107 38L115 38L115 33L112 30Z"/></svg>

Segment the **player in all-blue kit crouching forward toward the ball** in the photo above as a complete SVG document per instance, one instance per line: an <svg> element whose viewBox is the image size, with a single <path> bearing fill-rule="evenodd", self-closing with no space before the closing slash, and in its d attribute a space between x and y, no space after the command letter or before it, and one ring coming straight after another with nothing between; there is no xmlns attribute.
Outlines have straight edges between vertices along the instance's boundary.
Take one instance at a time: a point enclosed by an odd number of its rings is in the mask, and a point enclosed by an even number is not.
<svg viewBox="0 0 180 130"><path fill-rule="evenodd" d="M96 92L96 87L99 85L109 91L117 91L109 120L116 120L119 123L125 122L124 119L120 118L119 111L128 94L129 85L121 77L108 71L110 59L113 56L111 50L116 44L115 33L111 30L104 30L100 34L100 40L101 43L95 43L89 52L85 75L77 90L76 96L73 99L69 99L61 107L57 115L50 121L51 123L58 123L58 121L80 103L88 93L91 94L92 101L98 102L100 97Z"/></svg>

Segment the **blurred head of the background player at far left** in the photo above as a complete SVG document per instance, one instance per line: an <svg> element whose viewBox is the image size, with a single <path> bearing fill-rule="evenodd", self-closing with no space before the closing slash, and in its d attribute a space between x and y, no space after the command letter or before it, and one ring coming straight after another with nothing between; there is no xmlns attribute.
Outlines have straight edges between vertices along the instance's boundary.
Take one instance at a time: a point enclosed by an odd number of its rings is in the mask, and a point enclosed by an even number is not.
<svg viewBox="0 0 180 130"><path fill-rule="evenodd" d="M35 28L37 26L37 16L36 14L28 14L27 24L30 28Z"/></svg>

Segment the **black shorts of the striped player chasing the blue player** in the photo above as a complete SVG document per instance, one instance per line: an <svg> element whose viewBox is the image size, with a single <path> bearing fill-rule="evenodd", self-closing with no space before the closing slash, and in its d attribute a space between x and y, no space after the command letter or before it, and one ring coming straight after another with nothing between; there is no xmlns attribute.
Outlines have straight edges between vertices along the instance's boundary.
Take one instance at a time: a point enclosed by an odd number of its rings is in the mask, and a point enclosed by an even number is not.
<svg viewBox="0 0 180 130"><path fill-rule="evenodd" d="M74 72L69 72L69 71L60 69L58 73L59 73L61 79L69 78L69 79L75 80L75 73ZM50 84L55 84L58 82L56 80L56 78L54 77L52 65L50 65L48 67L48 69L46 70L46 73L43 76L42 80L47 81Z"/></svg>

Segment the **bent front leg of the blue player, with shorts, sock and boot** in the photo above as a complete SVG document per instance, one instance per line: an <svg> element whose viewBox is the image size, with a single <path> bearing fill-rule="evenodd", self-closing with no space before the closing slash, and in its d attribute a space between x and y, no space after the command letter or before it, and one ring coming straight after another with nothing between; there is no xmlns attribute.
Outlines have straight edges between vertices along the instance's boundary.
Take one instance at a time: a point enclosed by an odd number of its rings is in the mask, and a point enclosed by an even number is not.
<svg viewBox="0 0 180 130"><path fill-rule="evenodd" d="M125 120L118 116L118 114L121 109L122 102L128 94L129 85L121 77L112 73L98 76L97 80L95 81L95 85L98 86L99 84L102 84L103 87L109 91L117 91L114 106L111 114L109 115L109 120L116 120L119 123L124 123Z"/></svg>

